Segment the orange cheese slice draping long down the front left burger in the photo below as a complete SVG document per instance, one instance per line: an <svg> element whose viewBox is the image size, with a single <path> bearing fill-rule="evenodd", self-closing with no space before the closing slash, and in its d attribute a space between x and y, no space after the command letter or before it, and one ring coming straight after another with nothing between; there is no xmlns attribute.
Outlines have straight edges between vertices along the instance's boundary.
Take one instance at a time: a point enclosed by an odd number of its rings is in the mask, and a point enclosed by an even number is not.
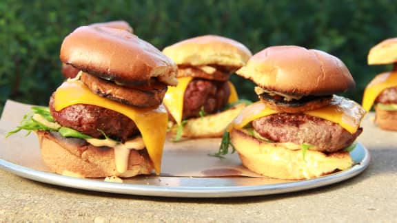
<svg viewBox="0 0 397 223"><path fill-rule="evenodd" d="M72 79L64 82L55 92L54 108L60 111L65 107L76 104L104 107L131 118L141 132L156 173L160 173L168 120L167 111L165 111L163 105L154 109L137 109L93 94L81 81Z"/></svg>

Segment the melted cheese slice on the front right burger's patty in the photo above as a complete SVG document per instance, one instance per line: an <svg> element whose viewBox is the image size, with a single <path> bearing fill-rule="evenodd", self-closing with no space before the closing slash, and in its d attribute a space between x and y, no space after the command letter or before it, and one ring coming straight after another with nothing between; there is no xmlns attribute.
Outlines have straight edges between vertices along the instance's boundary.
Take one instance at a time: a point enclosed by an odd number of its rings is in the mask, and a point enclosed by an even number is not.
<svg viewBox="0 0 397 223"><path fill-rule="evenodd" d="M252 103L251 105L245 107L243 111L241 111L232 125L230 125L228 130L230 131L232 127L236 129L242 129L245 127L245 125L251 123L256 118L277 113L281 112L269 109L261 101ZM349 131L349 133L354 134L358 127L360 127L361 120L365 115L365 110L353 100L334 95L331 103L329 103L329 105L326 107L312 111L305 111L303 113L309 116L315 116L329 120L332 123L337 123Z"/></svg>

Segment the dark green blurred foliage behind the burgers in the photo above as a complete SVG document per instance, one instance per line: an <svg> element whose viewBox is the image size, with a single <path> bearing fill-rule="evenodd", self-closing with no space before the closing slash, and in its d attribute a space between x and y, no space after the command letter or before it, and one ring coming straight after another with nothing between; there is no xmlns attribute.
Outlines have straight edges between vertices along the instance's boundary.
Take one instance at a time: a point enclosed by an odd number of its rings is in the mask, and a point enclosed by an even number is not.
<svg viewBox="0 0 397 223"><path fill-rule="evenodd" d="M59 49L74 28L123 19L159 49L202 34L219 34L256 53L269 45L324 50L345 62L360 102L365 85L387 66L367 66L367 52L397 36L397 5L362 1L12 1L0 2L0 111L7 98L47 105L63 81ZM256 100L238 76L238 92ZM309 81L309 80L308 80Z"/></svg>

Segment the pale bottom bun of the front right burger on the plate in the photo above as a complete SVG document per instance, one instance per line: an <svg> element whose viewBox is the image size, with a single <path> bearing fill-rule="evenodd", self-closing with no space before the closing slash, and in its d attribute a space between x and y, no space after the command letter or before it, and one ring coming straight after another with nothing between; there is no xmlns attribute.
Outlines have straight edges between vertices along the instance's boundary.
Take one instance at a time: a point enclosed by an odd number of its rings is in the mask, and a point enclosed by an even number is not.
<svg viewBox="0 0 397 223"><path fill-rule="evenodd" d="M230 140L247 169L270 178L317 178L348 169L354 163L347 151L325 154L307 150L303 159L300 145L264 142L237 129L230 132Z"/></svg>

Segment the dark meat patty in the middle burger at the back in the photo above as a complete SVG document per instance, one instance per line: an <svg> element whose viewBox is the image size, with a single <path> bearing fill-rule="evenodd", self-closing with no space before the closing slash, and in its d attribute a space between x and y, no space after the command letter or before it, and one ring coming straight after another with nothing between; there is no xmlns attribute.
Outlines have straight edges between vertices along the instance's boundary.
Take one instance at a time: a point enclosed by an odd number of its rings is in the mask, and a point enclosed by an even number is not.
<svg viewBox="0 0 397 223"><path fill-rule="evenodd" d="M213 114L227 104L229 96L227 82L194 78L183 96L183 118L198 117L201 107L205 114Z"/></svg>

